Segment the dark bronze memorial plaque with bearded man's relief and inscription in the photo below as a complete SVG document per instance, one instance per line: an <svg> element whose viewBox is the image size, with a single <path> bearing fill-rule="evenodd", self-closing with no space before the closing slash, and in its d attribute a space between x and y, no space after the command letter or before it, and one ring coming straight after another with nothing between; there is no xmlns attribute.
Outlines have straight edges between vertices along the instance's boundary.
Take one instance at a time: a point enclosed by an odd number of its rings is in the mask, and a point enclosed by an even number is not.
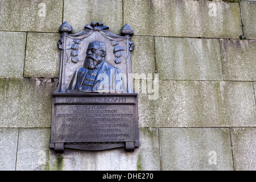
<svg viewBox="0 0 256 182"><path fill-rule="evenodd" d="M107 150L139 146L137 93L133 89L130 41L126 24L115 35L103 23L86 24L71 34L61 24L59 85L52 93L49 147Z"/></svg>

